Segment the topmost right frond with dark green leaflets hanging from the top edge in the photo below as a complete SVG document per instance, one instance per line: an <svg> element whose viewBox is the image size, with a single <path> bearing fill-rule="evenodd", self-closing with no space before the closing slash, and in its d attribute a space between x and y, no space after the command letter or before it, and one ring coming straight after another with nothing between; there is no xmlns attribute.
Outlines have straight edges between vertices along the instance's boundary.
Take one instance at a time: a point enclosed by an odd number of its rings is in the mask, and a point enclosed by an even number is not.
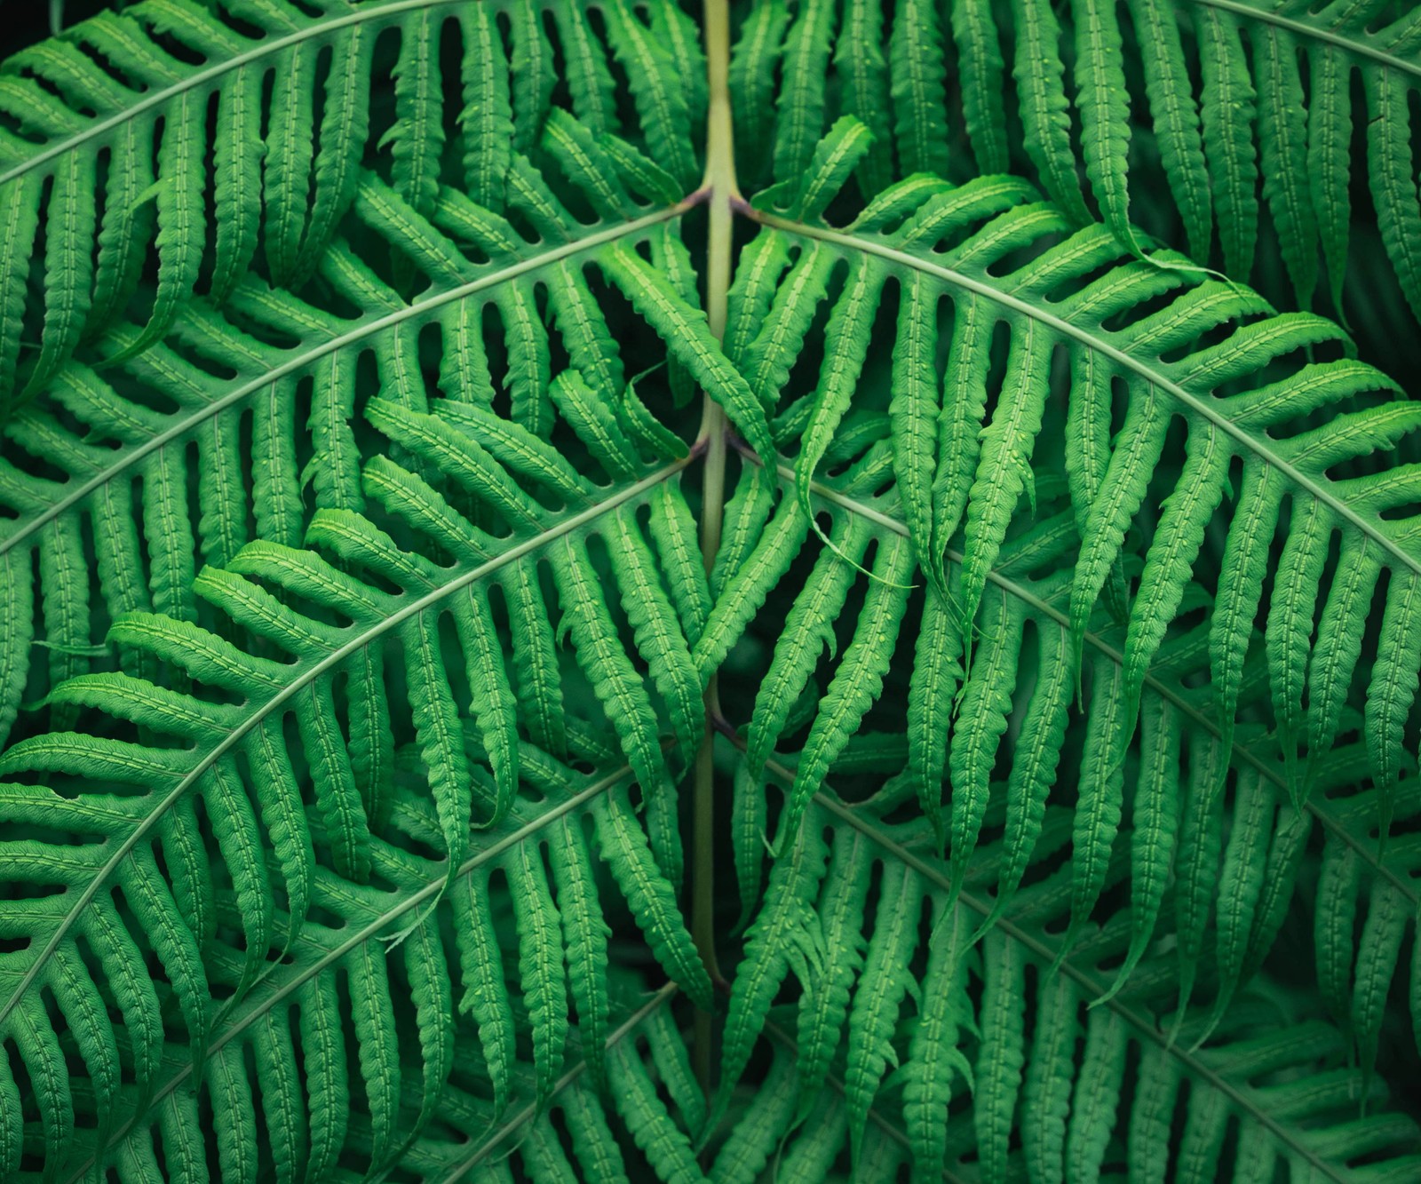
<svg viewBox="0 0 1421 1184"><path fill-rule="evenodd" d="M799 77L806 55L831 72L827 98L776 87L774 70ZM760 145L773 145L774 178L789 179L817 135L854 115L877 136L858 166L868 198L918 171L962 181L1022 168L1071 225L1094 209L1134 249L1131 198L1138 206L1141 195L1168 195L1174 244L1209 263L1216 239L1235 280L1253 270L1266 209L1303 307L1322 260L1341 310L1353 141L1364 132L1377 225L1421 316L1411 146L1421 17L1408 6L755 4L743 11L736 67L756 95L743 117L753 182L767 179L753 172Z"/></svg>

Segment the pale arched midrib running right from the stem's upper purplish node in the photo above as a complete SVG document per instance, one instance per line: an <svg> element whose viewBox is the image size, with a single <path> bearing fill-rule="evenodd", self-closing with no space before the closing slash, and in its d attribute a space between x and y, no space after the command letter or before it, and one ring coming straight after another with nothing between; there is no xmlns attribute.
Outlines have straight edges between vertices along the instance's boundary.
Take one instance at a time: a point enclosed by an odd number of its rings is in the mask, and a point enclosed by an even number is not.
<svg viewBox="0 0 1421 1184"><path fill-rule="evenodd" d="M1097 334L1086 328L1081 328L1080 325L1071 324L1070 321L1057 317L1053 313L1047 313L1044 308L1042 308L1037 304L1033 304L1029 300L1022 300L1020 297L1013 296L1009 291L1003 291L1002 289L993 287L992 284L983 283L982 280L972 279L971 276L966 276L962 271L955 271L953 269L944 267L938 263L929 263L925 259L918 259L915 254L898 250L897 247L891 247L885 243L875 243L871 240L860 239L855 235L848 235L841 230L831 230L820 226L806 226L801 222L794 222L791 219L780 217L772 213L763 213L760 210L750 209L749 206L742 206L740 212L750 220L759 222L763 226L770 226L773 229L783 230L790 235L799 235L806 239L820 239L827 243L834 243L836 246L840 246L845 250L858 250L864 252L865 254L877 254L878 257L885 259L890 263L894 263L899 267L912 267L929 276L936 276L946 284L955 284L958 287L966 289L968 291L975 293L976 296L980 296L996 304L1000 304L1003 308L1009 308L1010 311L1019 316L1039 321L1040 324L1047 325L1049 328L1063 334L1064 337L1074 338L1076 341L1081 343L1086 348L1094 350L1097 354L1103 354L1107 358L1111 358L1117 365L1134 371L1147 382L1150 382L1152 387L1157 387L1161 391L1165 391L1167 394L1172 395L1179 404L1184 405L1187 411L1201 416L1202 419L1206 419L1223 435L1238 441L1239 445L1242 445L1248 452L1252 452L1256 458L1259 458L1259 461L1276 469L1287 480L1293 482L1296 486L1303 489L1312 497L1316 497L1339 517L1346 519L1353 527L1360 530L1368 539L1374 539L1384 551L1388 551L1391 556L1394 556L1397 563L1400 563L1404 567L1408 567L1412 574L1421 576L1421 557L1408 554L1405 550L1401 549L1398 543L1395 543L1387 534L1381 533L1374 523L1370 523L1364 517L1361 517L1361 515L1358 515L1354 509L1351 509L1351 506L1343 502L1337 495L1324 489L1322 485L1319 485L1316 480L1307 476L1307 473L1290 465L1286 459L1283 459L1277 453L1270 452L1265 446L1262 439L1252 435L1250 432L1243 431L1226 415L1209 407L1208 402L1205 402L1202 398L1191 394L1178 382L1165 377L1164 374L1160 374L1151 365L1125 352L1118 345L1113 345L1111 343L1101 340Z"/></svg>

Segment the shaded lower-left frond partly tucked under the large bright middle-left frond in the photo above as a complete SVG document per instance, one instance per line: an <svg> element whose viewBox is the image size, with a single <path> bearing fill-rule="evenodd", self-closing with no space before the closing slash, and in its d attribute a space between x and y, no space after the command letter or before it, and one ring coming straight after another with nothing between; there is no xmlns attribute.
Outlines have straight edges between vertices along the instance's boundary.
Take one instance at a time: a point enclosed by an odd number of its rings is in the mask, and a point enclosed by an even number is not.
<svg viewBox="0 0 1421 1184"><path fill-rule="evenodd" d="M590 743L577 745L580 759L608 758L595 736ZM30 1079L55 1086L21 1103L7 1070L7 1180L30 1178L21 1154L44 1178L87 1178L95 1164L131 1181L159 1178L168 1164L180 1178L176 1166L207 1160L205 1130L216 1136L222 1180L327 1180L361 1164L378 1173L432 1120L448 1121L450 1080L476 1090L469 1104L489 1121L513 1113L523 1090L541 1110L574 1039L573 1013L584 1067L601 1083L618 1072L603 1056L621 994L608 972L612 893L654 928L678 982L703 998L672 890L632 816L630 769L578 775L524 746L516 803L472 836L450 878L429 854L441 820L419 785L421 755L398 763L385 837L371 840L377 883L317 870L318 918L266 918L287 955L250 991L250 914L271 894L264 873L253 884L233 866L209 887L212 920L189 952L206 968L206 996L190 1003L190 972L149 981L155 951L172 967L161 913L146 935L124 930L129 904L158 910L163 888L152 871L125 877L128 904L92 907L45 971L55 1015L24 999L7 1025ZM40 803L30 817L67 823ZM310 824L323 826L315 812ZM53 900L7 905L6 937L26 935Z"/></svg>

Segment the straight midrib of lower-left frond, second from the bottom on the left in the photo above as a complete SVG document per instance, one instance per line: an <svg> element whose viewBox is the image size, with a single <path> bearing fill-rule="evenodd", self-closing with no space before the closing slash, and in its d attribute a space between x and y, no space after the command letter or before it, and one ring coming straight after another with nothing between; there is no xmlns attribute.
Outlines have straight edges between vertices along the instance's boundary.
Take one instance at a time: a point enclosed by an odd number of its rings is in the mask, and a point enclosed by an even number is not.
<svg viewBox="0 0 1421 1184"><path fill-rule="evenodd" d="M537 834L540 830L543 830L543 827L549 826L550 823L556 822L564 814L568 814L573 810L577 810L578 807L587 804L594 797L601 796L630 773L631 773L631 766L624 765L615 773L608 773L607 776L601 777L600 780L594 782L585 789L577 792L564 802L558 802L546 813L539 814L536 819L530 819L517 830L514 830L512 834L503 836L496 843L492 843L490 846L485 847L476 856L470 856L469 859L466 859L459 866L459 871L455 874L455 878L465 880L466 877L473 874L479 867L496 859L497 856L503 854L510 847L517 846L519 843L524 841L533 834ZM256 1023L261 1016L264 1016L273 1008L276 1008L277 1003L293 995L297 989L300 989L304 984L310 982L313 978L320 975L324 969L338 962L341 958L350 954L350 951L355 949L358 945L364 945L367 941L377 937L392 921L398 920L399 917L404 917L412 908L418 907L431 897L438 897L441 893L446 891L448 887L449 887L449 877L439 876L431 880L422 888L409 893L408 895L402 897L399 901L392 904L389 908L377 914L372 921L369 921L362 928L357 930L344 942L327 949L325 954L323 954L308 967L304 967L300 974L293 975L290 979L283 981L281 985L277 986L271 994L263 996L254 1005L243 1011L242 1016L234 1023L225 1028L222 1030L222 1035L213 1039L206 1046L205 1049L206 1059L210 1059L213 1053L220 1052L226 1045L232 1043L232 1040L240 1036L247 1028ZM671 984L671 986L674 988L675 985ZM188 1080L188 1077L196 1073L198 1067L199 1065L193 1063L189 1059L176 1073L173 1073L172 1077L169 1077L162 1086L159 1086L152 1093L151 1097L146 1099L142 1110L134 1113L128 1119L128 1121L125 1121L118 1130L115 1130L108 1137L108 1141L104 1144L102 1148L98 1148L98 1151L94 1156L90 1156L88 1160L85 1160L78 1168L75 1168L75 1171L68 1177L67 1184L75 1184L75 1181L85 1178L85 1175L88 1174L90 1168L95 1164L95 1161L102 1160L108 1151L114 1150L114 1147L117 1147L124 1140L128 1131L131 1131L135 1126L139 1126L139 1123L148 1114L152 1113L153 1106L156 1103L162 1102L162 1099L165 1099L175 1089L178 1089L185 1080Z"/></svg>

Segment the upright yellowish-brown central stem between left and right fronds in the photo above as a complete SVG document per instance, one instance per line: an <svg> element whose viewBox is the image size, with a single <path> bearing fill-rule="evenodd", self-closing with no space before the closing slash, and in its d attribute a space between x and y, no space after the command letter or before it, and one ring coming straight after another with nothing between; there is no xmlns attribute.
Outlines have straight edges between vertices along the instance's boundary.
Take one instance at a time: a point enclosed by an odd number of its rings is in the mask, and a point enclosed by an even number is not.
<svg viewBox="0 0 1421 1184"><path fill-rule="evenodd" d="M706 117L706 175L710 230L706 243L706 317L716 340L725 335L726 294L730 289L732 199L735 144L730 124L730 10L728 0L705 0L706 71L710 104ZM709 574L720 549L725 512L726 419L725 409L705 395L701 436L706 442L705 485L701 509L701 556ZM709 721L719 712L715 675L706 685L706 731L696 753L691 863L691 935L713 981L720 979L715 949L715 760ZM709 1012L696 1012L692 1048L696 1077L706 1096L715 1086L715 1028Z"/></svg>

